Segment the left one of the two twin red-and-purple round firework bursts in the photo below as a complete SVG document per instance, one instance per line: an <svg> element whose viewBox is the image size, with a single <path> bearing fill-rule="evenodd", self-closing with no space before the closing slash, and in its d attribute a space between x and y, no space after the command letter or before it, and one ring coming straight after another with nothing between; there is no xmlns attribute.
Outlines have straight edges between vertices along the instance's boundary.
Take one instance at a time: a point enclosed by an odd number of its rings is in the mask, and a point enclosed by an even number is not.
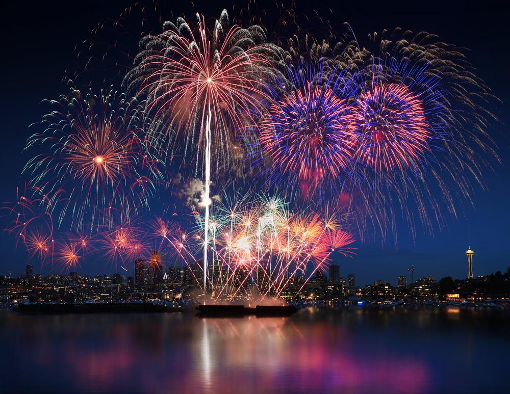
<svg viewBox="0 0 510 394"><path fill-rule="evenodd" d="M322 68L322 65L318 69ZM341 187L356 142L347 102L324 81L322 71L297 68L290 89L275 92L275 101L257 129L255 154L269 165L263 175L284 185L290 195L324 197ZM308 76L307 76L308 75Z"/></svg>

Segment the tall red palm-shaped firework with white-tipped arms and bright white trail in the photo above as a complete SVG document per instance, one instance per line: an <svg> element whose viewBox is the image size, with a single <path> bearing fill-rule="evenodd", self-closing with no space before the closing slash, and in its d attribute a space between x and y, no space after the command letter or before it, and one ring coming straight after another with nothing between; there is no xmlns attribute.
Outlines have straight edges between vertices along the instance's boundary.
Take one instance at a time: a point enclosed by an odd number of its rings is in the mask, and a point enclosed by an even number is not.
<svg viewBox="0 0 510 394"><path fill-rule="evenodd" d="M194 27L177 18L176 24L165 22L163 30L141 40L144 50L124 78L124 86L146 97L148 113L169 137L170 161L175 154L189 157L191 153L196 157L195 173L203 165L207 244L212 162L217 171L224 169L230 160L231 134L244 124L243 114L259 107L262 78L272 73L264 54L273 46L265 44L258 26L230 27L225 10L212 31L199 14ZM207 275L206 249L203 260Z"/></svg>

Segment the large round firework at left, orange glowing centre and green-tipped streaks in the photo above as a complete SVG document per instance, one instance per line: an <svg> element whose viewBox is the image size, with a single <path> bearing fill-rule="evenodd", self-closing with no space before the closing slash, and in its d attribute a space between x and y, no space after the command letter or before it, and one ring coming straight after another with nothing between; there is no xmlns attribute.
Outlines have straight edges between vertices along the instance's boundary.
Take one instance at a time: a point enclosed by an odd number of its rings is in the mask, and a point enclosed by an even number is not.
<svg viewBox="0 0 510 394"><path fill-rule="evenodd" d="M77 228L105 223L115 214L129 218L148 207L155 182L162 179L147 140L138 125L143 107L111 91L82 96L71 89L41 122L43 133L30 137L27 149L42 147L23 172L41 194L61 190L50 213Z"/></svg>

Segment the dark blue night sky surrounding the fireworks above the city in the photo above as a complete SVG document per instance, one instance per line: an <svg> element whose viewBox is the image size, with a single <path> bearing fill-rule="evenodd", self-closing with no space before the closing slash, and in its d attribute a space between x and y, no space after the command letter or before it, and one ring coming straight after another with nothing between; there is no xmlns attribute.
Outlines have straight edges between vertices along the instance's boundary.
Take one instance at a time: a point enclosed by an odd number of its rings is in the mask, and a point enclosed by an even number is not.
<svg viewBox="0 0 510 394"><path fill-rule="evenodd" d="M230 11L232 2L207 2L196 7L207 17L219 17L221 10ZM211 4L217 6L211 6ZM22 188L20 177L30 155L22 153L31 135L28 126L38 122L48 107L44 99L57 99L68 92L63 81L67 67L75 64L75 45L90 38L91 30L103 18L117 18L130 2L12 2L2 4L2 36L4 37L2 67L2 136L0 168L3 169L0 202L15 201L16 187ZM149 3L150 4L150 3ZM240 3L244 6L244 3ZM263 2L259 9L264 8ZM339 28L347 21L360 41L374 32L400 27L414 33L427 31L437 34L440 40L469 48L468 60L478 70L486 85L501 102L491 106L500 119L488 129L497 146L501 163L494 157L486 157L491 168L484 170L487 190L475 186L474 208L466 206L464 214L459 209L457 219L447 216L447 230L436 229L432 237L417 228L416 244L413 243L404 223L399 224L398 249L392 245L377 243L354 245L359 250L353 258L334 256L340 264L341 276L356 275L356 284L364 285L375 279L397 284L397 276L407 275L411 265L415 279L430 274L440 279L467 277L468 246L475 251L473 273L475 276L506 271L510 266L507 252L510 245L510 144L508 125L508 12L504 2L377 2L326 4L308 2L302 12L316 4L328 6L333 11L332 24ZM268 3L270 5L270 3ZM164 18L174 21L180 11L171 16L171 3L162 7ZM189 15L189 12L188 14ZM112 81L111 83L117 83ZM108 83L105 88L109 87ZM117 89L119 87L116 87ZM433 192L433 190L432 190ZM458 205L461 206L460 204ZM0 219L0 227L6 228L8 218ZM15 251L12 234L0 238L0 274L9 272L19 276L27 264L23 247ZM48 274L49 266L42 269L35 259L34 274ZM93 275L113 273L111 267L100 262L86 262L78 269L79 274ZM55 272L55 271L54 271Z"/></svg>

